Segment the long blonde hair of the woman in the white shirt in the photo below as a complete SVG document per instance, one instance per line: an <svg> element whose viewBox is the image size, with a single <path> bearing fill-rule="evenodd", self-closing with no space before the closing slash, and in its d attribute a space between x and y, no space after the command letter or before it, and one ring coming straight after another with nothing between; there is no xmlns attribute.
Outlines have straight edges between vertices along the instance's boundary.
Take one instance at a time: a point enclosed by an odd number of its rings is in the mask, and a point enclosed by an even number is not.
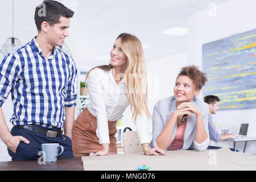
<svg viewBox="0 0 256 182"><path fill-rule="evenodd" d="M147 107L147 76L141 41L136 36L127 33L120 34L117 39L119 38L121 39L122 51L127 60L124 75L127 85L126 97L130 104L132 118L134 118L135 122L138 115L142 115L143 112L148 119L152 118ZM113 66L109 64L94 68L110 71ZM94 68L90 69L90 71ZM86 75L85 82L90 71Z"/></svg>

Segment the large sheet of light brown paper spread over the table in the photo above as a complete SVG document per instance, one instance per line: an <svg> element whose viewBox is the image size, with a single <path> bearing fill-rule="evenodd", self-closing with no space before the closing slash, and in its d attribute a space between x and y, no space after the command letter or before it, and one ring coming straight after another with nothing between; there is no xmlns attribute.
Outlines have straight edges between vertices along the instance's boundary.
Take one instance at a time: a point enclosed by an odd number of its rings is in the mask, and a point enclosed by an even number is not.
<svg viewBox="0 0 256 182"><path fill-rule="evenodd" d="M149 166L152 171L166 170L256 170L256 155L230 151L228 147L219 150L166 151L167 156L139 154L118 154L108 156L84 156L86 171L133 171L139 165ZM215 159L214 159L215 158Z"/></svg>

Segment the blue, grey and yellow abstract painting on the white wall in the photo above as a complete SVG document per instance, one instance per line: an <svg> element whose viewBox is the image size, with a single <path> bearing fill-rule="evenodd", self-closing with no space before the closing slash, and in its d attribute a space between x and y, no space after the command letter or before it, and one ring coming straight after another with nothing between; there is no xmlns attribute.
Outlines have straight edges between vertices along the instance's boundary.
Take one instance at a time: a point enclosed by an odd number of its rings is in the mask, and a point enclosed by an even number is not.
<svg viewBox="0 0 256 182"><path fill-rule="evenodd" d="M203 44L203 96L220 98L220 110L256 108L256 29Z"/></svg>

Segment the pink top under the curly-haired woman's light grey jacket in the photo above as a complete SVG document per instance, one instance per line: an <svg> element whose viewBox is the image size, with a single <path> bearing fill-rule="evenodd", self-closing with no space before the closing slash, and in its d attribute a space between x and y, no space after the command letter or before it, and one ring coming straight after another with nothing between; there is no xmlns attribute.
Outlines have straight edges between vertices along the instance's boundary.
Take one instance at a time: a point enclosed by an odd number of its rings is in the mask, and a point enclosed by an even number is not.
<svg viewBox="0 0 256 182"><path fill-rule="evenodd" d="M177 126L177 131L174 140L172 141L168 150L178 150L183 147L183 138L185 133L187 122L184 124Z"/></svg>

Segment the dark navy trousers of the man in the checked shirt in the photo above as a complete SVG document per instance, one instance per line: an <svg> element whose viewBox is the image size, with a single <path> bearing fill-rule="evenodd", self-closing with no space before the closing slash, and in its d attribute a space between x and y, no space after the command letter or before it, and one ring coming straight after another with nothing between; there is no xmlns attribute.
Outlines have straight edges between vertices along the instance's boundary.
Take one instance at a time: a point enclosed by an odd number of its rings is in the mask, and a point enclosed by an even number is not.
<svg viewBox="0 0 256 182"><path fill-rule="evenodd" d="M56 131L57 129L52 129L52 131ZM35 133L34 131L20 129L14 126L11 129L11 134L13 136L19 135L30 141L29 144L26 144L22 141L19 142L18 147L16 148L16 152L14 153L9 148L7 148L9 155L12 160L36 160L40 156L38 155L39 151L42 151L41 144L42 143L59 143L64 147L64 152L58 156L59 158L72 158L72 141L67 135L60 134L56 138L46 137L45 135ZM59 148L60 152L60 148Z"/></svg>

